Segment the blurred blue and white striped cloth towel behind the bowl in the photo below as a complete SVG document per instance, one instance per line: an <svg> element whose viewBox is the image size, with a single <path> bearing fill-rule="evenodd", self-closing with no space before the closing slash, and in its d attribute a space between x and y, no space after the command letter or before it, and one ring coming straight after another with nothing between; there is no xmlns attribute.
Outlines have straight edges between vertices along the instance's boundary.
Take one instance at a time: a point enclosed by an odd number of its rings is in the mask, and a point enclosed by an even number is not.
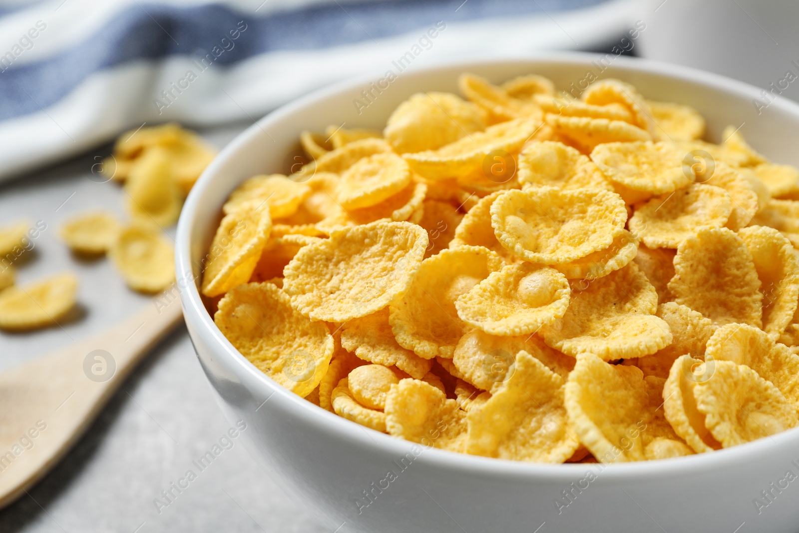
<svg viewBox="0 0 799 533"><path fill-rule="evenodd" d="M405 58L588 50L634 0L47 0L0 6L0 179L164 121L260 117Z"/></svg>

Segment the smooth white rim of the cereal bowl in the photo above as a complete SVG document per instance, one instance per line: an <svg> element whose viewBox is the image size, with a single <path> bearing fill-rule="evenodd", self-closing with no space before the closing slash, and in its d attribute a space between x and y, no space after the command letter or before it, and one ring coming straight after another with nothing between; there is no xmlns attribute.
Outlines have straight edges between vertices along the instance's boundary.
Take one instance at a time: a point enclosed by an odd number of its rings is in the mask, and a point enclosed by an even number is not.
<svg viewBox="0 0 799 533"><path fill-rule="evenodd" d="M434 71L441 67L456 68L460 67L463 71L479 66L496 66L502 63L531 62L538 64L570 64L588 66L591 61L604 58L604 54L590 54L579 52L542 52L530 54L494 54L491 56L481 56L475 59L447 59L436 62L429 62L424 66L412 70L412 74L419 75ZM677 66L666 62L657 62L641 58L617 57L614 59L614 68L622 71L641 72L644 74L656 74L666 78L678 79L690 84L706 86L710 89L721 91L722 93L732 93L735 96L747 99L761 96L761 89L751 86L745 82L739 82L731 78L726 78L719 74L704 72L686 66ZM316 89L302 97L296 98L285 105L273 110L254 121L247 129L239 133L237 137L230 141L225 148L221 149L217 157L205 169L201 177L197 180L193 189L186 198L185 205L181 211L181 217L177 225L175 264L177 279L181 280L180 272L194 272L191 255L191 237L193 232L193 221L197 219L197 207L199 198L214 180L221 179L218 170L225 161L235 157L241 147L248 144L253 137L258 137L274 121L299 111L306 105L316 101L332 97L334 94L344 91L357 89L368 82L372 82L383 73L371 71L354 78L348 78L336 82L329 86ZM778 113L789 113L797 117L799 122L799 104L785 98L777 98L769 104ZM283 388L271 378L260 372L252 363L238 352L233 344L222 335L219 328L213 322L213 317L206 311L202 303L200 292L195 282L195 276L191 275L192 282L178 283L181 304L184 309L184 316L197 331L203 331L209 336L212 342L217 362L223 364L235 376L240 378L240 386L245 388L259 388L261 397L271 398L278 395L284 405L296 409L296 415L301 416L311 424L317 424L320 431L334 434L340 439L350 440L353 444L367 447L378 447L380 451L387 451L397 456L403 456L411 451L411 447L421 447L424 453L416 455L415 461L426 464L427 466L437 467L447 471L469 474L483 475L497 479L517 479L523 480L556 480L569 483L578 479L582 472L588 468L601 468L602 478L609 483L630 482L642 480L657 475L659 478L679 477L682 475L698 475L702 472L719 471L722 468L734 467L741 463L756 460L758 457L767 457L769 452L799 444L799 427L789 429L769 438L762 438L753 442L740 444L735 447L723 448L710 453L688 455L673 459L655 459L640 461L635 463L527 463L523 461L513 461L510 459L494 459L481 457L478 455L468 455L453 451L440 450L438 448L426 447L423 444L415 444L410 441L397 439L387 434L376 432L375 430L364 428L359 424L346 420L332 412L296 396L293 392ZM207 379L207 376L206 376ZM252 392L252 391L251 391ZM265 402L264 402L265 403Z"/></svg>

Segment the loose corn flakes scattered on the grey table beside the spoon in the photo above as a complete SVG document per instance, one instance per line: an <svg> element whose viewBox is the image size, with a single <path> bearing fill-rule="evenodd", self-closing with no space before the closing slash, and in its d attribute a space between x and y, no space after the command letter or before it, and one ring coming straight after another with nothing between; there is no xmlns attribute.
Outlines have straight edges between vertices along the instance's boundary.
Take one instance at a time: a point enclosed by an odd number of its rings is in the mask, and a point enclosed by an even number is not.
<svg viewBox="0 0 799 533"><path fill-rule="evenodd" d="M105 211L66 221L62 240L81 257L107 253L130 288L160 292L175 279L174 248L163 229L181 213L186 194L216 151L176 124L123 133L101 165L107 180L124 184L132 220ZM18 257L37 228L19 221L0 228L0 257ZM14 284L13 261L0 265L0 328L28 330L59 324L76 304L78 278L64 272L27 287Z"/></svg>

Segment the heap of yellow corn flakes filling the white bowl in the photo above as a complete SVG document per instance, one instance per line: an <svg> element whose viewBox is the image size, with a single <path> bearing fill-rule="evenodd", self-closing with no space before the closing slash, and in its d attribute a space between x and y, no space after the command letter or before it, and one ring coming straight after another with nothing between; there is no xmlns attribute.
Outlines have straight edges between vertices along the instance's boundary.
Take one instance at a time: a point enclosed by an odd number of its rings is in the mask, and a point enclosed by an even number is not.
<svg viewBox="0 0 799 533"><path fill-rule="evenodd" d="M417 93L244 181L201 292L264 374L379 432L539 463L799 424L799 171L614 79Z"/></svg>

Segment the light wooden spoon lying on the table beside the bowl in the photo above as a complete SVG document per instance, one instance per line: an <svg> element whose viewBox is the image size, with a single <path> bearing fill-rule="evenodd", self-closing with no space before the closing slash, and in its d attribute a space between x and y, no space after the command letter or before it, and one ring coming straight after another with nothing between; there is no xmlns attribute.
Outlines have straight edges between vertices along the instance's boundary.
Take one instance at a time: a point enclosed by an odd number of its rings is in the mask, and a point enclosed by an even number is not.
<svg viewBox="0 0 799 533"><path fill-rule="evenodd" d="M153 299L104 332L0 372L0 508L34 486L70 451L181 316L176 297L168 304Z"/></svg>

